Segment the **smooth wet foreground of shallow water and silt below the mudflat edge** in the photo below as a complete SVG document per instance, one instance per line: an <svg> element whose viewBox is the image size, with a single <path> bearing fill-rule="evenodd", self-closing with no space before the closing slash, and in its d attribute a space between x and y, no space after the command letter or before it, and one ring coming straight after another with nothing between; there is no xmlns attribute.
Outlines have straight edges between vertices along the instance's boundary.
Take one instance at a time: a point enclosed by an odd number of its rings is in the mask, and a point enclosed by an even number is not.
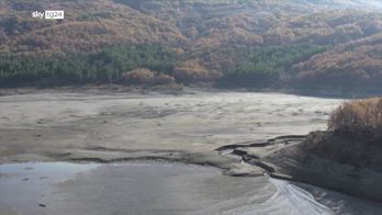
<svg viewBox="0 0 382 215"><path fill-rule="evenodd" d="M2 165L0 214L382 213L379 203L300 186L267 177L227 177L215 168L182 163Z"/></svg>

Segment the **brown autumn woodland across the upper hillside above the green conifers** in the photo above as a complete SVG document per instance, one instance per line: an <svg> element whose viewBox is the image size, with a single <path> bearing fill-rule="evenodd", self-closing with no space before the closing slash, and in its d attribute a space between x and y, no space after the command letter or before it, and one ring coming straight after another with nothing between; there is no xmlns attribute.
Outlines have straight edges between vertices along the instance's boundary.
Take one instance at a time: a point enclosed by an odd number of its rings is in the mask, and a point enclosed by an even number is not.
<svg viewBox="0 0 382 215"><path fill-rule="evenodd" d="M5 1L0 2L0 42L4 41L1 44L12 52L88 52L116 43L212 48L227 44L336 44L382 30L381 14L373 12L327 12L318 5L293 1L243 2L246 3L229 0ZM67 9L65 21L46 22L30 16L31 11L43 8Z"/></svg>

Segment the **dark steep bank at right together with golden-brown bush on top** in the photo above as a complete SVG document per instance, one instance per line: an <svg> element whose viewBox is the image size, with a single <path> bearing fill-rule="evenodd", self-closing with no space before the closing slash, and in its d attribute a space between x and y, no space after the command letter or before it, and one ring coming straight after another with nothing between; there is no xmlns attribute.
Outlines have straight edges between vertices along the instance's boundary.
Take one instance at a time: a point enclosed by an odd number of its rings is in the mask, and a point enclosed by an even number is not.
<svg viewBox="0 0 382 215"><path fill-rule="evenodd" d="M276 166L274 176L382 201L381 128L381 98L344 102L327 132L311 133L263 160Z"/></svg>

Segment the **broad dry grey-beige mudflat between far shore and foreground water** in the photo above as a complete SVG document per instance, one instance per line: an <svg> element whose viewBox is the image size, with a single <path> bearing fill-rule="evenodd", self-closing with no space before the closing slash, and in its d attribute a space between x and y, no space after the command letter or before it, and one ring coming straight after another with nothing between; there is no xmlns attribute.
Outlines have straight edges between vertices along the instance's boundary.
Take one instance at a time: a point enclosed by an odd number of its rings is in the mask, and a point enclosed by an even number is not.
<svg viewBox="0 0 382 215"><path fill-rule="evenodd" d="M213 166L227 176L300 180L268 158L324 129L341 101L198 90L5 93L0 163L166 160Z"/></svg>

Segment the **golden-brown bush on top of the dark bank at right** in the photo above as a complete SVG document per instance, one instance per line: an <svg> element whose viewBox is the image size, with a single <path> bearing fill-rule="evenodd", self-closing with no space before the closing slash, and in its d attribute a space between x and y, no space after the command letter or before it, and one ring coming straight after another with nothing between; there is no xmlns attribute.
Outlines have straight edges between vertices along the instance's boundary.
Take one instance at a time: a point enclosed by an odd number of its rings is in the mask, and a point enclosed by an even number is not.
<svg viewBox="0 0 382 215"><path fill-rule="evenodd" d="M328 128L366 140L382 140L382 98L344 102L329 118Z"/></svg>

